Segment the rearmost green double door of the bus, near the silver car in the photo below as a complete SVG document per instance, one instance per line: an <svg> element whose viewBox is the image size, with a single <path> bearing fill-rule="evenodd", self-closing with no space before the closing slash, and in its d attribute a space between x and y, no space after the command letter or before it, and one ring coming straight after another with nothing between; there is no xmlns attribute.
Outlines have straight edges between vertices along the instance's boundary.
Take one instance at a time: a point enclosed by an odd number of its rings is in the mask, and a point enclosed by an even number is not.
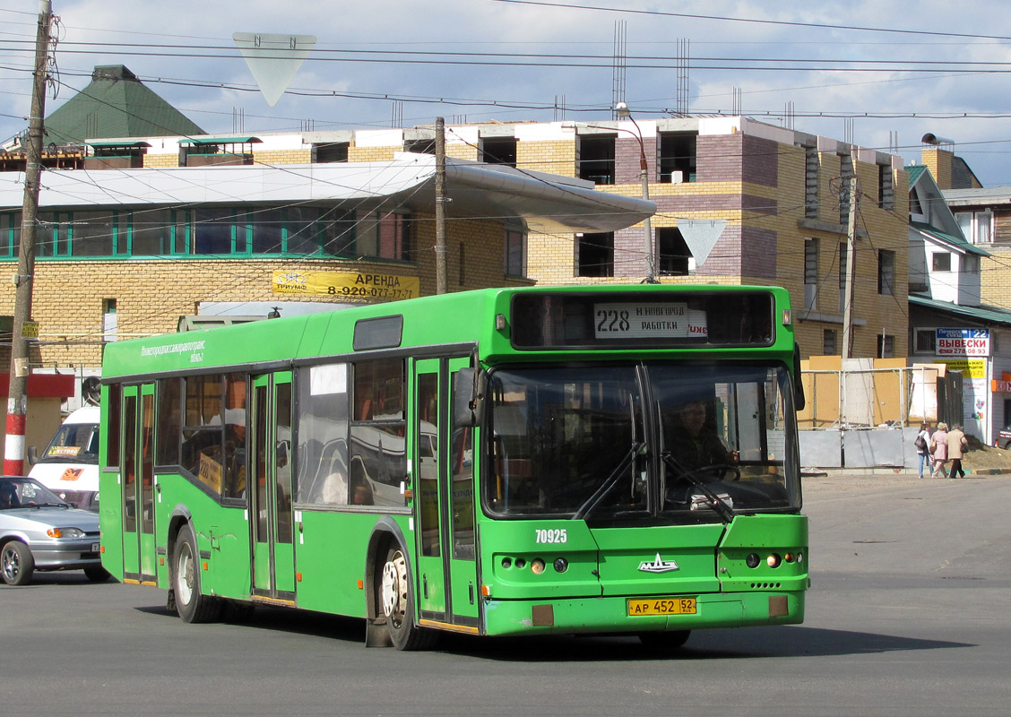
<svg viewBox="0 0 1011 717"><path fill-rule="evenodd" d="M124 386L121 410L123 577L155 585L155 385Z"/></svg>

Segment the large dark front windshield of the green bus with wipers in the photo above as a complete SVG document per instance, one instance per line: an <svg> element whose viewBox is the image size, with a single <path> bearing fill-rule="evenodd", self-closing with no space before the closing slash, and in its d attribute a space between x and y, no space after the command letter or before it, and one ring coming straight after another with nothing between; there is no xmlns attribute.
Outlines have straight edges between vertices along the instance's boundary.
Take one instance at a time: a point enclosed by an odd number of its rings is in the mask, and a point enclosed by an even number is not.
<svg viewBox="0 0 1011 717"><path fill-rule="evenodd" d="M488 395L492 516L683 522L800 508L785 366L499 368Z"/></svg>

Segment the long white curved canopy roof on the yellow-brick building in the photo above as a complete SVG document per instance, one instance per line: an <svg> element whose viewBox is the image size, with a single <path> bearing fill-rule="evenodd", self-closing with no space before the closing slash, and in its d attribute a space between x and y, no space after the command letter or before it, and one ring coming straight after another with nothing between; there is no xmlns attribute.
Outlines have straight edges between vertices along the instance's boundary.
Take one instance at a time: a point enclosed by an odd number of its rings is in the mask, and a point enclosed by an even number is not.
<svg viewBox="0 0 1011 717"><path fill-rule="evenodd" d="M39 207L272 204L380 200L435 212L435 157L397 153L389 162L145 169L52 170ZM0 208L16 210L24 176L6 175ZM522 219L538 232L615 232L651 216L648 200L596 191L592 182L504 165L447 160L447 216Z"/></svg>

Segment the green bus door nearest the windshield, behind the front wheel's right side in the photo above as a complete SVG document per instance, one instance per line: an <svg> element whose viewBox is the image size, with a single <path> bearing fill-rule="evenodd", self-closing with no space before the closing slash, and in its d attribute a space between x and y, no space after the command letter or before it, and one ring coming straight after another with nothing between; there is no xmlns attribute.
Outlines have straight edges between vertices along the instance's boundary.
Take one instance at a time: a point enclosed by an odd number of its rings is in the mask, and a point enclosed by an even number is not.
<svg viewBox="0 0 1011 717"><path fill-rule="evenodd" d="M473 429L454 429L450 377L469 358L416 363L412 473L422 624L478 628Z"/></svg>

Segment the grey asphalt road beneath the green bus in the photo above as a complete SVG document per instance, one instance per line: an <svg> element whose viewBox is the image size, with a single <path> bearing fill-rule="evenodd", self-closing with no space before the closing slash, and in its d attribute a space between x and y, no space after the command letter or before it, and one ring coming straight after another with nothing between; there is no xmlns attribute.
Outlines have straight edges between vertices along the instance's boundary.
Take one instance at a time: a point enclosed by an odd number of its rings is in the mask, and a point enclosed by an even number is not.
<svg viewBox="0 0 1011 717"><path fill-rule="evenodd" d="M0 587L0 715L1006 715L1011 476L809 479L804 625L366 649L282 609L186 625L152 588Z"/></svg>

